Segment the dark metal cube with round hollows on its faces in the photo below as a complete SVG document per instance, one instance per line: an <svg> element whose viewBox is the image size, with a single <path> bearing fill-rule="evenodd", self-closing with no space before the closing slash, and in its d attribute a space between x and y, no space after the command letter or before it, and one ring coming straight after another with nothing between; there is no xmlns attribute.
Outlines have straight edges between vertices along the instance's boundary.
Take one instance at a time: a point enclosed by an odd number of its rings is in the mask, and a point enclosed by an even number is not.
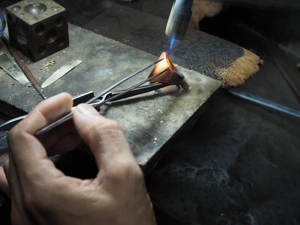
<svg viewBox="0 0 300 225"><path fill-rule="evenodd" d="M67 12L53 0L23 0L6 8L10 44L32 61L69 45Z"/></svg>

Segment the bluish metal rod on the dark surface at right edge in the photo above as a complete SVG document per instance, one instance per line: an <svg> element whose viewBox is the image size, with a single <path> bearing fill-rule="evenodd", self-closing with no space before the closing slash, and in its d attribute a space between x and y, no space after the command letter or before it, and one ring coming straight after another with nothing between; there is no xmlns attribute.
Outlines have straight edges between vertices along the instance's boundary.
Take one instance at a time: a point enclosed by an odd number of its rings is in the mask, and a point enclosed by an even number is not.
<svg viewBox="0 0 300 225"><path fill-rule="evenodd" d="M286 106L281 105L281 104L277 104L277 103L275 103L273 101L269 101L267 99L264 99L264 98L261 98L261 97L258 97L258 96L255 96L255 95L243 92L241 90L229 89L228 92L230 94L232 94L234 96L237 96L237 97L240 97L242 99L245 99L245 100L248 100L248 101L251 101L251 102L263 105L265 107L272 108L274 110L277 110L277 111L280 111L280 112L283 112L283 113L295 116L297 118L300 118L300 111L298 111L298 110L286 107Z"/></svg>

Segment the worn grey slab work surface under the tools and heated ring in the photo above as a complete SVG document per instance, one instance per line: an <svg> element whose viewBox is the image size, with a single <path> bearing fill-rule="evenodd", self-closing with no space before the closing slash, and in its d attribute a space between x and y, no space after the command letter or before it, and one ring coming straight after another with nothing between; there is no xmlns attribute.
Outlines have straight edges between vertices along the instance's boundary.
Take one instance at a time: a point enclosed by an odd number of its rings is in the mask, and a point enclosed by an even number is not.
<svg viewBox="0 0 300 225"><path fill-rule="evenodd" d="M94 32L69 25L70 46L28 67L41 84L66 62L79 59L77 67L43 90L52 96L61 92L71 95L106 89L123 77L157 60L157 57ZM2 45L0 51L7 52ZM9 54L7 52L7 54ZM40 70L41 64L56 59L53 66ZM25 57L24 60L27 60ZM153 67L153 66L152 66ZM141 72L115 90L121 90L146 79L151 68ZM203 74L177 68L185 75L181 88L169 86L103 106L101 114L117 120L124 130L131 149L141 166L152 166L163 155L159 150L179 131L204 111L206 102L217 92L221 83ZM1 112L13 116L18 111L29 112L40 101L32 87L25 87L4 71L0 72ZM13 84L13 85L12 85ZM6 106L10 105L9 109ZM15 108L15 110L13 110ZM180 113L178 113L178 111Z"/></svg>

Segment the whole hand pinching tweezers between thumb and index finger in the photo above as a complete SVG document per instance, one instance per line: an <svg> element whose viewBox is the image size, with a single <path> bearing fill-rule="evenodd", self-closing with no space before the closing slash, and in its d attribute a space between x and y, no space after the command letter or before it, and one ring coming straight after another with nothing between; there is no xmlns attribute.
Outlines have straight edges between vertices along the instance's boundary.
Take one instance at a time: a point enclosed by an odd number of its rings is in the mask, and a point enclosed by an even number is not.
<svg viewBox="0 0 300 225"><path fill-rule="evenodd" d="M0 187L11 197L12 224L155 224L143 174L117 122L81 104L73 122L34 136L71 106L67 93L50 97L8 132L9 161L4 171L0 167ZM66 176L47 159L72 150L79 137L95 156L94 179Z"/></svg>

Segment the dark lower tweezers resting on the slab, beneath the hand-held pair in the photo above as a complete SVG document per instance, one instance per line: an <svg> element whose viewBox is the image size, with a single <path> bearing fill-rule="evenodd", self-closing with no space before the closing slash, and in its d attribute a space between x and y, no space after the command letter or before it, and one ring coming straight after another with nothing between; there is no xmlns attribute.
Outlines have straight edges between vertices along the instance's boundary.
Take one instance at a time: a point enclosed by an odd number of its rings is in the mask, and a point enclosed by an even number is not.
<svg viewBox="0 0 300 225"><path fill-rule="evenodd" d="M135 96L138 94L157 90L157 89L169 86L169 85L170 84L166 84L166 83L152 83L152 84L136 87L129 91L127 91L128 89L126 89L126 90L119 90L119 91L115 91L115 92L109 92L109 93L104 94L103 96L99 96L97 99L95 99L92 103L89 103L89 104L92 106L95 106L95 107L97 106L96 108L97 108L97 110L99 110L99 106L98 106L99 103L103 104L104 101L105 102L106 101L117 101L117 100L121 100L121 99L124 99L127 97L132 97L132 96ZM92 97L94 97L93 91L73 96L72 97L73 107L77 106L80 103L86 102L88 99L90 99ZM9 131L13 126L15 126L19 121L21 121L25 117L26 117L26 115L23 115L23 116L20 116L17 118L13 118L7 122L4 122L3 124L0 125L0 131Z"/></svg>

